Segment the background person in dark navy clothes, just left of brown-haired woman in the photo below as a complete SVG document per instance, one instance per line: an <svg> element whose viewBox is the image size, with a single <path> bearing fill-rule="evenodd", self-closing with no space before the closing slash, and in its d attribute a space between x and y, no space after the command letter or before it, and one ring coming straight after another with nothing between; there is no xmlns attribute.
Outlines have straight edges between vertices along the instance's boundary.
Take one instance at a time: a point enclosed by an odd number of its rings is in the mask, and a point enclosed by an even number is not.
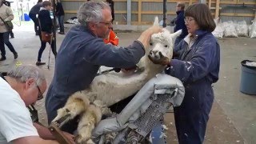
<svg viewBox="0 0 256 144"><path fill-rule="evenodd" d="M186 35L188 34L187 30L186 30L186 25L185 25L185 21L184 21L184 9L185 9L185 3L182 2L178 2L177 6L176 6L176 14L177 14L177 18L175 20L175 26L174 26L174 33L178 30L182 30L182 34L178 36L178 38L176 38L174 45L177 46L179 42L182 41L183 38L186 37Z"/></svg>

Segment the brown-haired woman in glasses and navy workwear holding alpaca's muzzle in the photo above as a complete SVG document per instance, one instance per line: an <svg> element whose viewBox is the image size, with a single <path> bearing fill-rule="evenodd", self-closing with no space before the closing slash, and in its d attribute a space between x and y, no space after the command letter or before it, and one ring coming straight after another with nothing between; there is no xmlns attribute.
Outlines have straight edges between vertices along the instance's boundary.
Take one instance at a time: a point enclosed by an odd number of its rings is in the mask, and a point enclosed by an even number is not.
<svg viewBox="0 0 256 144"><path fill-rule="evenodd" d="M216 25L206 4L187 8L185 22L189 34L174 52L178 58L168 63L165 72L185 86L182 105L174 107L174 119L180 144L202 143L214 102L212 84L218 81L220 46L211 34Z"/></svg>

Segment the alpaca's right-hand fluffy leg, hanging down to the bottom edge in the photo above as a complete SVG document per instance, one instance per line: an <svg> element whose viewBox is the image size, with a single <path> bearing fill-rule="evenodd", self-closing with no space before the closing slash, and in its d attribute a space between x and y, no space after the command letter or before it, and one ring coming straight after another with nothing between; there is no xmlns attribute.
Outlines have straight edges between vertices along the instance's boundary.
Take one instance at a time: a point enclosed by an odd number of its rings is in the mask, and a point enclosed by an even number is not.
<svg viewBox="0 0 256 144"><path fill-rule="evenodd" d="M98 106L90 105L78 124L78 136L76 142L79 144L89 143L91 141L91 132L101 118L101 109Z"/></svg>

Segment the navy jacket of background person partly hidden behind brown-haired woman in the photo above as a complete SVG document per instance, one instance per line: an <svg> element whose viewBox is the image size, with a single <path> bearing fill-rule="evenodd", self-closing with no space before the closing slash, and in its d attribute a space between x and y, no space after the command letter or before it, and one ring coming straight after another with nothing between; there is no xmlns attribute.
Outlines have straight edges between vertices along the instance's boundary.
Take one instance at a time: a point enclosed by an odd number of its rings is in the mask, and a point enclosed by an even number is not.
<svg viewBox="0 0 256 144"><path fill-rule="evenodd" d="M182 30L182 34L179 35L179 38L185 38L186 35L188 34L185 21L184 21L184 10L177 11L177 18L175 21L175 26L174 26L174 32L178 30Z"/></svg>

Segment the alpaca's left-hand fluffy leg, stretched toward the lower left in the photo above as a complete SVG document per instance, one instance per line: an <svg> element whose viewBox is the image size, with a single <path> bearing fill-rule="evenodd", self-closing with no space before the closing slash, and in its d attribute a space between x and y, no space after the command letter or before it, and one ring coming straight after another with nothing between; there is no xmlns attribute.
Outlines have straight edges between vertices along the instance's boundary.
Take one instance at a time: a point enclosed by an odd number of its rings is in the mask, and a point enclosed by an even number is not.
<svg viewBox="0 0 256 144"><path fill-rule="evenodd" d="M61 127L66 122L81 114L90 105L86 95L75 93L66 102L66 105L57 111L57 116L52 122Z"/></svg>

